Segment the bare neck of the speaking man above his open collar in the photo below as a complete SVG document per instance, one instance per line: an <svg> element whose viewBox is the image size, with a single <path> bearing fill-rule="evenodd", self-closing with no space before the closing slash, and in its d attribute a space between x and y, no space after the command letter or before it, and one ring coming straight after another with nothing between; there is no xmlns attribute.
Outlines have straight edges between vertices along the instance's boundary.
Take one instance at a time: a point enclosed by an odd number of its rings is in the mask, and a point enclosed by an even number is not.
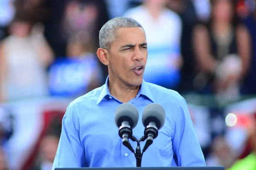
<svg viewBox="0 0 256 170"><path fill-rule="evenodd" d="M112 96L123 103L129 102L131 99L137 96L140 86L127 86L125 83L118 81L117 79L108 77L108 89Z"/></svg>

